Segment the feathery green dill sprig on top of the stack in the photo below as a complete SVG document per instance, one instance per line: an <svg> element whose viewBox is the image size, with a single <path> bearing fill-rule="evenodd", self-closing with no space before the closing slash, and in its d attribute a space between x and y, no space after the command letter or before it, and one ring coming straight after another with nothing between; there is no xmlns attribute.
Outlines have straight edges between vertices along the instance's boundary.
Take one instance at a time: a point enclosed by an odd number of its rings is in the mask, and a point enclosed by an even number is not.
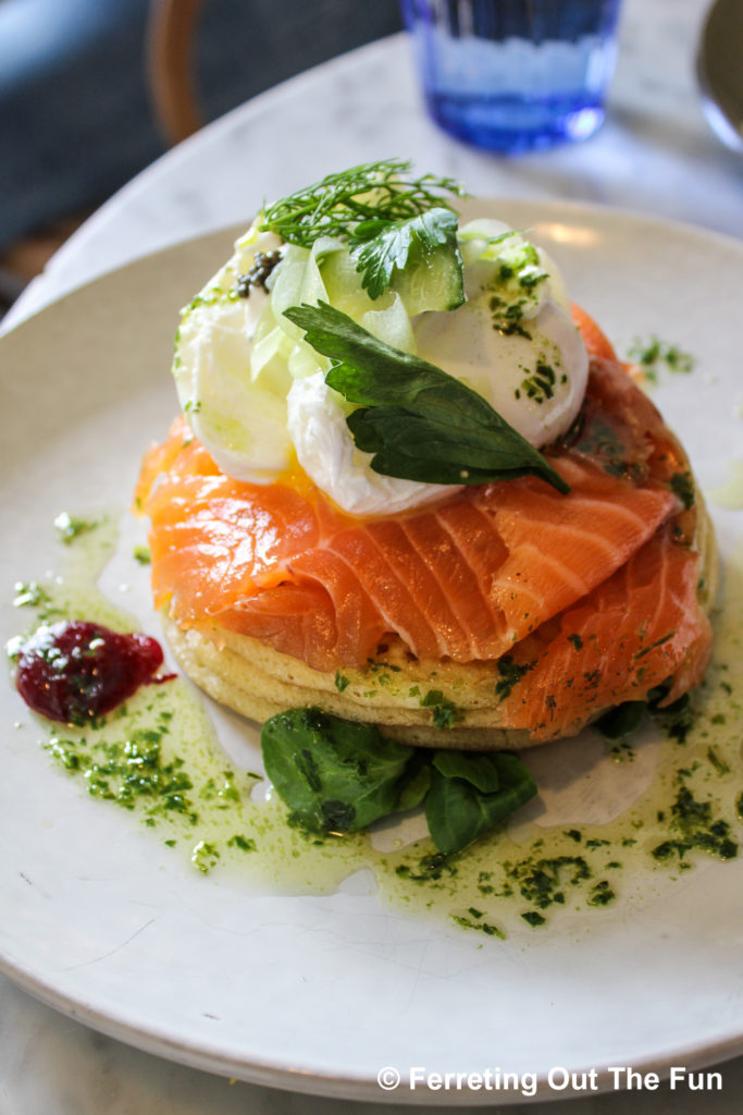
<svg viewBox="0 0 743 1115"><path fill-rule="evenodd" d="M312 248L320 236L365 242L391 222L409 221L436 206L451 209L446 195L466 196L453 178L410 178L408 159L362 163L267 205L261 229L290 244ZM444 196L442 196L444 195Z"/></svg>

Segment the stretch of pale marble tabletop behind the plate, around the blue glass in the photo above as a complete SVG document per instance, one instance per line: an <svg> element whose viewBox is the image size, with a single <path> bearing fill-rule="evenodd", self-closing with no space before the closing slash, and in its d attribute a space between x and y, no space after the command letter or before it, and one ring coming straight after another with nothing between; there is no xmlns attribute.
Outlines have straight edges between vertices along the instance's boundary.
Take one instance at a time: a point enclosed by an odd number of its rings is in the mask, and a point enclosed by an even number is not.
<svg viewBox="0 0 743 1115"><path fill-rule="evenodd" d="M741 236L743 162L707 126L695 78L708 2L625 0L604 126L585 144L520 158L470 148L426 117L404 35L309 70L134 178L62 246L9 322L138 255L247 224L264 198L400 155L480 196L610 205Z"/></svg>

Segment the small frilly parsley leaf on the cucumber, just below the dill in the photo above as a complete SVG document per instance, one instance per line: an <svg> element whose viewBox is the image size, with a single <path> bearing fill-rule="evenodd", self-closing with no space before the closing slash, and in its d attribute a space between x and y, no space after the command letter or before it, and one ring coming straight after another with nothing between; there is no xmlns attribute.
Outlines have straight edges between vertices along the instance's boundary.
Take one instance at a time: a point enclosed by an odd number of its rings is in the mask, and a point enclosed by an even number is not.
<svg viewBox="0 0 743 1115"><path fill-rule="evenodd" d="M457 214L438 206L407 221L366 221L359 225L352 239L352 252L358 255L356 271L363 272L361 285L370 298L379 298L392 285L395 270L426 265L443 246L456 261L459 291L449 306L454 310L465 301L462 259L457 244Z"/></svg>

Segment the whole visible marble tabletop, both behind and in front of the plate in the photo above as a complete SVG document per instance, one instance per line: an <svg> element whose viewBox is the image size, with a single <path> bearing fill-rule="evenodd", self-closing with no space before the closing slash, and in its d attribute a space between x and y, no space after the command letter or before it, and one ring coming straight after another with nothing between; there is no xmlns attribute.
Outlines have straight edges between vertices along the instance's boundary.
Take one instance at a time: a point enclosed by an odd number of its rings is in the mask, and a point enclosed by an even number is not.
<svg viewBox="0 0 743 1115"><path fill-rule="evenodd" d="M468 148L427 120L404 36L301 75L217 120L129 183L58 252L3 328L130 259L247 222L264 196L392 155L460 178L480 195L598 203L741 236L743 161L710 132L694 79L706 6L625 0L604 127L584 145L520 158ZM732 1115L743 1094L743 1058L720 1072L722 1092L672 1093L662 1085L657 1092L557 1099L549 1107L537 1103L531 1111ZM57 1014L0 977L0 1115L360 1115L372 1106L231 1083L160 1060Z"/></svg>

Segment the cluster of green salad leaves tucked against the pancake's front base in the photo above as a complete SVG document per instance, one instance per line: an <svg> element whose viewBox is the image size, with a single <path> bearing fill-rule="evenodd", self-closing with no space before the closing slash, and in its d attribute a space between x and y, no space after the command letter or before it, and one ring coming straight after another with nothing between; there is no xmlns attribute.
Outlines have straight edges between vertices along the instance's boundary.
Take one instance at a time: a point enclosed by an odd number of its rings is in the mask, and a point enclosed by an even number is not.
<svg viewBox="0 0 743 1115"><path fill-rule="evenodd" d="M315 708L271 717L261 745L292 820L315 833L356 832L424 802L433 843L452 855L537 793L515 755L405 747Z"/></svg>

